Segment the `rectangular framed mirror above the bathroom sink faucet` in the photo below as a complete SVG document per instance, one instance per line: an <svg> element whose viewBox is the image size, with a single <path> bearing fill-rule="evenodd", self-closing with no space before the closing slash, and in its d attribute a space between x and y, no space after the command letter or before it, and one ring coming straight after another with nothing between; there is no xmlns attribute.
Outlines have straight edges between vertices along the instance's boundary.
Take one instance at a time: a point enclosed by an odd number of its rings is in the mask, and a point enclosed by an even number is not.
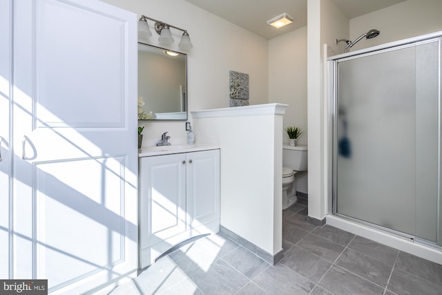
<svg viewBox="0 0 442 295"><path fill-rule="evenodd" d="M187 120L187 55L138 42L138 120Z"/></svg>

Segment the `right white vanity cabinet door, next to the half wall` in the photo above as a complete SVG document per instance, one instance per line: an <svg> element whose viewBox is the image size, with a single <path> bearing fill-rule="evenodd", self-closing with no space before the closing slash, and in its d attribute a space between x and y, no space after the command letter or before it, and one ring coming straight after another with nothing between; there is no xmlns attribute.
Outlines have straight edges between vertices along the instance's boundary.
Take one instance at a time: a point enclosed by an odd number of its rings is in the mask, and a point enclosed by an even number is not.
<svg viewBox="0 0 442 295"><path fill-rule="evenodd" d="M189 227L220 218L220 150L187 153Z"/></svg>

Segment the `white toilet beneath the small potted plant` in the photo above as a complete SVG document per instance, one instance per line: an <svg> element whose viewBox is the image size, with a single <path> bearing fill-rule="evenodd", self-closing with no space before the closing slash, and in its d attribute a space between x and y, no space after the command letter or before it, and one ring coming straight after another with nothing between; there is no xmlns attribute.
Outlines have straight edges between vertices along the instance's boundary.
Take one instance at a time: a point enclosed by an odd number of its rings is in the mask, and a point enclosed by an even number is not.
<svg viewBox="0 0 442 295"><path fill-rule="evenodd" d="M296 173L307 171L307 146L282 146L282 209L298 201Z"/></svg>

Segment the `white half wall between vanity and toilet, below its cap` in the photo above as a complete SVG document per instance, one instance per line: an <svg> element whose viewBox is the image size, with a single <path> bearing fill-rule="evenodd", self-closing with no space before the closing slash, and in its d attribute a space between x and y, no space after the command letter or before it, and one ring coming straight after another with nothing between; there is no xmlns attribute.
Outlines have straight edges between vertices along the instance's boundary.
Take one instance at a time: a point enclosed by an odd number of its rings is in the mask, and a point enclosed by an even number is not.
<svg viewBox="0 0 442 295"><path fill-rule="evenodd" d="M220 145L221 225L274 255L282 249L282 115L271 108L196 112L195 133Z"/></svg>

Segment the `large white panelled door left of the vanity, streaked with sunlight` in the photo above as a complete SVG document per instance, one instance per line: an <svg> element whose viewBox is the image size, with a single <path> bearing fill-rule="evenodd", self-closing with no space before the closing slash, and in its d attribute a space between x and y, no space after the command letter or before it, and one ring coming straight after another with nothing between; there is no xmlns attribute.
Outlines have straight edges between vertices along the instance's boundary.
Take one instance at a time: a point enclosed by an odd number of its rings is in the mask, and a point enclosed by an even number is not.
<svg viewBox="0 0 442 295"><path fill-rule="evenodd" d="M14 1L13 278L79 294L137 267L136 15Z"/></svg>

